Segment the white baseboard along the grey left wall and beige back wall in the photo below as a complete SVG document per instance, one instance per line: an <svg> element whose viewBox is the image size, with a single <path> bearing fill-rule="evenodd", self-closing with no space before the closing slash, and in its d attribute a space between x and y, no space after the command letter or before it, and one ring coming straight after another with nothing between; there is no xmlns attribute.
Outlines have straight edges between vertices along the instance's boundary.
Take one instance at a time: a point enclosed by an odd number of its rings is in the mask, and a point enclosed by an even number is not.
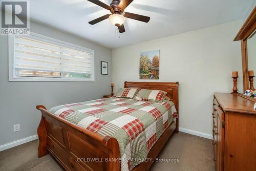
<svg viewBox="0 0 256 171"><path fill-rule="evenodd" d="M203 138L212 139L212 135L210 135L210 134L206 134L206 133L202 133L202 132L198 132L198 131L194 131L194 130L185 129L183 127L180 127L179 130L180 130L180 132L183 132L183 133L187 133L187 134L191 134L191 135L196 135L196 136L203 137ZM18 146L18 145L21 145L21 144L24 144L24 143L27 143L27 142L30 142L30 141L33 141L33 140L36 140L36 139L38 139L38 136L37 135L32 135L32 136L27 137L27 138L23 138L23 139L20 139L20 140L9 142L9 143L4 144L4 145L0 145L0 152L6 150L8 148L12 148L14 146Z"/></svg>

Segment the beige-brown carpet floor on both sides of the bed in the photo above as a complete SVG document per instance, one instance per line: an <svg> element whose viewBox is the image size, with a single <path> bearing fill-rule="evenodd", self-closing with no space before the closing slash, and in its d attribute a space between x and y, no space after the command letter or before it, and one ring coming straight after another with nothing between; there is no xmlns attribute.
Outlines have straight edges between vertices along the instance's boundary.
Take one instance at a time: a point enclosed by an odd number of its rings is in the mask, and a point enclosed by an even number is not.
<svg viewBox="0 0 256 171"><path fill-rule="evenodd" d="M0 170L63 170L51 155L37 158L38 140L0 152ZM174 134L158 157L179 162L155 162L152 170L215 170L211 140L179 133Z"/></svg>

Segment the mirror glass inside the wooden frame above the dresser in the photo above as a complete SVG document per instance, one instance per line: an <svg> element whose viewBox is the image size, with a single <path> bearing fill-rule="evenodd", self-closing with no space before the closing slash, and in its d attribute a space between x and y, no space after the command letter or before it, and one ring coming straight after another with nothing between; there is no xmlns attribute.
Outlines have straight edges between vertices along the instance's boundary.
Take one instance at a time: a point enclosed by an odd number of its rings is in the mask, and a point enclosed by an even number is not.
<svg viewBox="0 0 256 171"><path fill-rule="evenodd" d="M247 39L248 71L256 73L256 32Z"/></svg>

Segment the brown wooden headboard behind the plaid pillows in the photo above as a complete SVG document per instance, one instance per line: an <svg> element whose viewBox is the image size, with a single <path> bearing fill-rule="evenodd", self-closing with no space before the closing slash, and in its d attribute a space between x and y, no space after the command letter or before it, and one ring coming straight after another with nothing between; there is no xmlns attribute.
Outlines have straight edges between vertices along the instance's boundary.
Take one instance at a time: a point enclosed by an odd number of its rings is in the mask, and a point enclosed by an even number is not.
<svg viewBox="0 0 256 171"><path fill-rule="evenodd" d="M124 82L124 88L141 88L167 92L167 96L174 102L175 108L179 113L178 87L179 82Z"/></svg>

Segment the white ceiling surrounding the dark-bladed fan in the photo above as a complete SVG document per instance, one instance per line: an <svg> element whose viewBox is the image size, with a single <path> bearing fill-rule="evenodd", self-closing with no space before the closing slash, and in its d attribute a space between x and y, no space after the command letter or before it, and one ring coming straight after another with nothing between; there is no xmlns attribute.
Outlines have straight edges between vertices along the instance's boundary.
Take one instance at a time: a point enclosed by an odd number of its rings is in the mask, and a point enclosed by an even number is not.
<svg viewBox="0 0 256 171"><path fill-rule="evenodd" d="M111 0L101 0L110 5ZM87 0L31 0L30 17L40 23L70 32L108 48L184 33L242 19L253 0L134 0L127 12L150 16L149 23L127 18L125 33L108 19L88 22L105 10Z"/></svg>

